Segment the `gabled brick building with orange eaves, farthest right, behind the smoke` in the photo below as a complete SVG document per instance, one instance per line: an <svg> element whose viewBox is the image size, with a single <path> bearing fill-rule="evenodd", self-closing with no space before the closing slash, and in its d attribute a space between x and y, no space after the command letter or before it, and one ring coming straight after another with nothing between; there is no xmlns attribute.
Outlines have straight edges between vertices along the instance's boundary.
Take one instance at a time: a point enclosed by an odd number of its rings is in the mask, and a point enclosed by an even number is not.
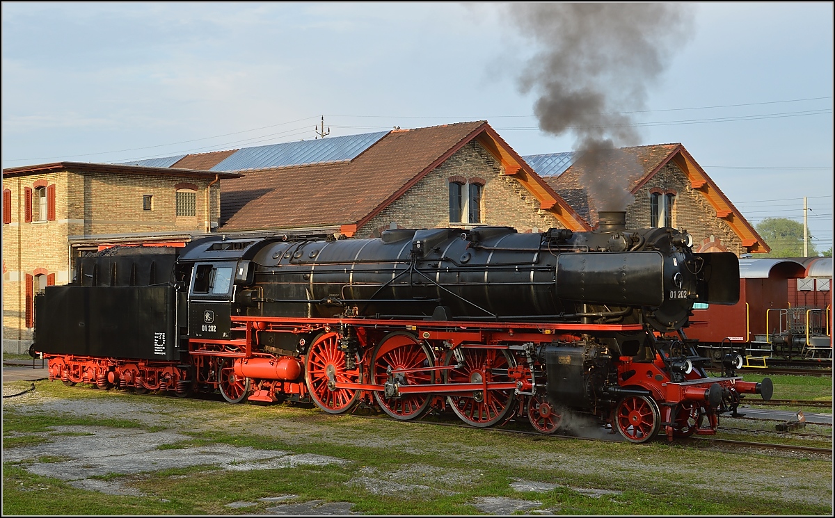
<svg viewBox="0 0 835 518"><path fill-rule="evenodd" d="M574 152L523 158L590 224L597 221L597 211L607 207L604 196L589 186L596 176L615 171L619 178L603 179L628 191L627 227L686 229L698 252L726 251L739 256L770 251L681 143L599 152L594 160L584 160L583 153ZM600 172L590 174L589 163L595 163Z"/></svg>

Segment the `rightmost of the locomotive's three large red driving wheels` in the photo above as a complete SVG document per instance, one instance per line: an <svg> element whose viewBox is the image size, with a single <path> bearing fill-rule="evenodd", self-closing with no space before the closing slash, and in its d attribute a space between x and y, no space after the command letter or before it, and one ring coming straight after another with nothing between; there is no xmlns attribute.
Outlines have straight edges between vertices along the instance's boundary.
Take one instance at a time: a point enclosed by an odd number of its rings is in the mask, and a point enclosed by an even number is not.
<svg viewBox="0 0 835 518"><path fill-rule="evenodd" d="M508 351L461 348L463 365L446 371L446 383L502 383L510 381L509 367L516 362ZM447 353L446 365L458 365L453 351ZM468 425L486 428L502 422L514 410L514 390L475 390L470 396L450 395L453 412Z"/></svg>

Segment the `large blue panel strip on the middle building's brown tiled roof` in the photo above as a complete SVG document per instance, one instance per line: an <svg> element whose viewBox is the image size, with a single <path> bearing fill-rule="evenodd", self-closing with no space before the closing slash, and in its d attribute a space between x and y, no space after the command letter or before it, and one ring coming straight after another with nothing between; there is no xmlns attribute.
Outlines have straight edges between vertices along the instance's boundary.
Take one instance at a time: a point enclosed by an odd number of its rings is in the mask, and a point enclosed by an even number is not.
<svg viewBox="0 0 835 518"><path fill-rule="evenodd" d="M385 137L387 131L239 149L211 171L244 171L312 163L347 162Z"/></svg>

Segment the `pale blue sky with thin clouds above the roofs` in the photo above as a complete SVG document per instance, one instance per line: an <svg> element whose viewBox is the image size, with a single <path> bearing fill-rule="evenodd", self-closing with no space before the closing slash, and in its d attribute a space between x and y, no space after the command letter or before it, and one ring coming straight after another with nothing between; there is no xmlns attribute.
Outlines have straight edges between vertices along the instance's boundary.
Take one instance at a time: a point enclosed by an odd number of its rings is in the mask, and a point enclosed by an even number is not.
<svg viewBox="0 0 835 518"><path fill-rule="evenodd" d="M3 168L311 139L322 117L329 136L487 120L521 155L571 151L534 116L549 49L518 7L4 2ZM637 143L682 143L751 224L802 222L806 197L832 247L832 3L664 7Z"/></svg>

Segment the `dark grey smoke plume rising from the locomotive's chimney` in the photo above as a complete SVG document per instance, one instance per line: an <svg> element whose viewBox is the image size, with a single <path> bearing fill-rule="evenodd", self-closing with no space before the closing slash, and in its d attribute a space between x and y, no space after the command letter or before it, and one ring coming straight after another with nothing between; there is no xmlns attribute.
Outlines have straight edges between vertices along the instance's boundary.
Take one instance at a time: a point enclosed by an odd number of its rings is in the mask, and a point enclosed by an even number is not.
<svg viewBox="0 0 835 518"><path fill-rule="evenodd" d="M690 33L687 5L672 3L513 3L511 18L539 47L521 78L537 96L547 133L576 137L582 182L599 210L623 210L627 179L640 164L621 147L640 143L634 115L647 88ZM619 156L621 155L621 156ZM620 170L612 170L612 168Z"/></svg>

